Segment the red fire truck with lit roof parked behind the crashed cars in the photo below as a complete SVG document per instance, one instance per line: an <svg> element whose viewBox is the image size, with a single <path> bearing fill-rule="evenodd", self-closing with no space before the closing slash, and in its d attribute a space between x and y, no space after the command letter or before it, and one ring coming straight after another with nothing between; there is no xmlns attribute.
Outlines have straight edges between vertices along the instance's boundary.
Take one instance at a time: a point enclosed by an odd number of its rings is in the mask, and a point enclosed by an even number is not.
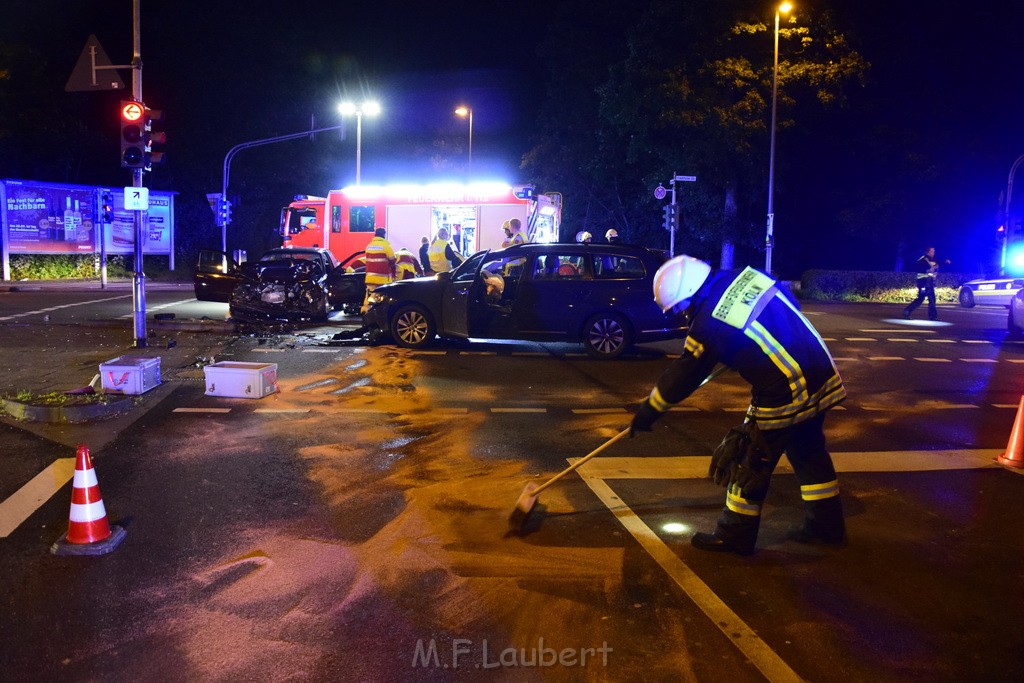
<svg viewBox="0 0 1024 683"><path fill-rule="evenodd" d="M532 242L556 242L561 196L532 185L500 183L355 185L325 197L299 195L281 213L284 245L327 247L338 259L361 251L374 229L387 228L397 251L419 253L421 240L449 229L464 255L501 246L502 223L518 218Z"/></svg>

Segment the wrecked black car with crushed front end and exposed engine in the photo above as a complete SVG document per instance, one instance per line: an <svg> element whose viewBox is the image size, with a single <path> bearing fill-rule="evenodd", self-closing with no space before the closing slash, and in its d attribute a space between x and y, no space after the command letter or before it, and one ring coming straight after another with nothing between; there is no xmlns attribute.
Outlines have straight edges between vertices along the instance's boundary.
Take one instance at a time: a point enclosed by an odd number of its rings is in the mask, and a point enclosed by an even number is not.
<svg viewBox="0 0 1024 683"><path fill-rule="evenodd" d="M366 295L362 252L339 263L327 249L271 249L239 264L204 250L196 268L196 298L227 302L231 317L255 321L327 321L335 310L357 310Z"/></svg>

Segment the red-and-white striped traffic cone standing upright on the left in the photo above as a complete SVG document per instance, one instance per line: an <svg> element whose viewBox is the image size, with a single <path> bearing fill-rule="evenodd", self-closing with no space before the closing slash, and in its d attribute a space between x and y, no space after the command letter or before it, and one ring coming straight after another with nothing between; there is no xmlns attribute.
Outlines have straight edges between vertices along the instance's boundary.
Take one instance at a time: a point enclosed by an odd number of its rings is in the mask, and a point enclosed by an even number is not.
<svg viewBox="0 0 1024 683"><path fill-rule="evenodd" d="M89 446L80 443L71 489L68 532L50 551L54 555L104 555L117 548L124 538L123 528L106 523L106 509L99 495L96 471L92 469Z"/></svg>

